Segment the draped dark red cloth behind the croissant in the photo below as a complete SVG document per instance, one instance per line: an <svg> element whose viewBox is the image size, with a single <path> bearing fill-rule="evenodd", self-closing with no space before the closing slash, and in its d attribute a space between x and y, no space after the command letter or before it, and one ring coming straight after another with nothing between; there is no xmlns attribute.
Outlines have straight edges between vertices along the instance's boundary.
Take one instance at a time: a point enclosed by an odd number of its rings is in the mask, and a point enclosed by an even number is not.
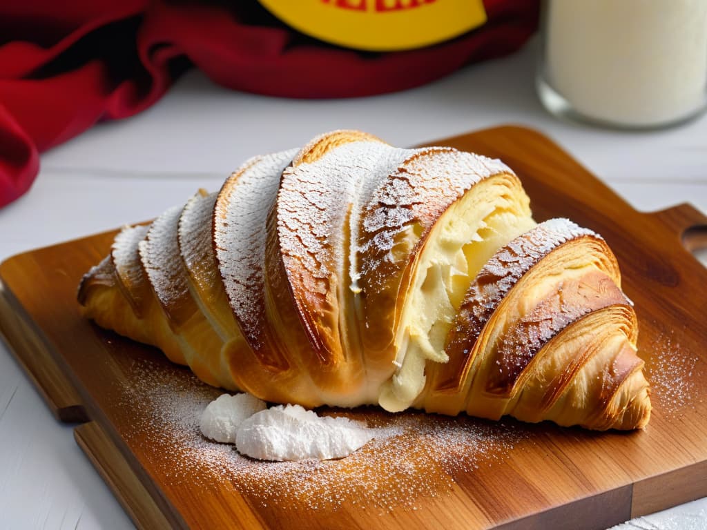
<svg viewBox="0 0 707 530"><path fill-rule="evenodd" d="M38 153L99 119L144 110L190 64L228 88L268 95L385 93L518 49L538 10L538 0L485 0L489 20L477 30L433 47L373 54L305 37L257 0L220 2L1 2L0 206L29 189Z"/></svg>

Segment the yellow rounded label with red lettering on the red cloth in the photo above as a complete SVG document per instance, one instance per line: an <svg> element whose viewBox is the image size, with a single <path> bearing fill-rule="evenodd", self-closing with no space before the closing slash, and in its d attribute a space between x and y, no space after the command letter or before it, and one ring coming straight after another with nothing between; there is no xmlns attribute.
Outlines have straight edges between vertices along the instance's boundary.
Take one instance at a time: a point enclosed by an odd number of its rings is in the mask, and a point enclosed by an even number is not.
<svg viewBox="0 0 707 530"><path fill-rule="evenodd" d="M292 28L374 52L449 40L486 22L481 0L259 0Z"/></svg>

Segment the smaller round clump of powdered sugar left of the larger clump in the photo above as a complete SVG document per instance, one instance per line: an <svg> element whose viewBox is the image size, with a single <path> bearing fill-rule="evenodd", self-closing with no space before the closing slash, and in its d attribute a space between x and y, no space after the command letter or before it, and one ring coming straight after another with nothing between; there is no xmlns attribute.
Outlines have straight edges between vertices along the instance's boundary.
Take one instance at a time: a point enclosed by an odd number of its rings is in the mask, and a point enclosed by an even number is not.
<svg viewBox="0 0 707 530"><path fill-rule="evenodd" d="M233 444L243 421L266 408L265 401L252 394L221 394L204 409L199 430L210 440Z"/></svg>

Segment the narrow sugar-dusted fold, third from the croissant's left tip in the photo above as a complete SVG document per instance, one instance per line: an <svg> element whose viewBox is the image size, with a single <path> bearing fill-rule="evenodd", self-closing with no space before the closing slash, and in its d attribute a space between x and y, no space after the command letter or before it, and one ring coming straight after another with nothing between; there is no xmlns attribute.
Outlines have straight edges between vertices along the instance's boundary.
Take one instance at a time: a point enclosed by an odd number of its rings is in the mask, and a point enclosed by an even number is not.
<svg viewBox="0 0 707 530"><path fill-rule="evenodd" d="M173 206L159 216L139 245L142 264L165 314L181 324L190 314L191 299L187 271L180 257L177 228L182 206Z"/></svg>

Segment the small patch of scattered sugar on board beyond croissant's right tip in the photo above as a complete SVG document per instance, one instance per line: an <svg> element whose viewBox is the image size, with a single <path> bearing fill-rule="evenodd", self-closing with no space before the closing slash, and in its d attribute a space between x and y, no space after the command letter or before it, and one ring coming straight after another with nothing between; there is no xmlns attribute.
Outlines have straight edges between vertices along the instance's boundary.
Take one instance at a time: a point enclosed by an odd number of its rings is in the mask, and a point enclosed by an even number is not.
<svg viewBox="0 0 707 530"><path fill-rule="evenodd" d="M698 389L697 355L682 348L672 334L661 333L651 343L645 360L645 375L650 384L650 399L668 415L694 406Z"/></svg>

